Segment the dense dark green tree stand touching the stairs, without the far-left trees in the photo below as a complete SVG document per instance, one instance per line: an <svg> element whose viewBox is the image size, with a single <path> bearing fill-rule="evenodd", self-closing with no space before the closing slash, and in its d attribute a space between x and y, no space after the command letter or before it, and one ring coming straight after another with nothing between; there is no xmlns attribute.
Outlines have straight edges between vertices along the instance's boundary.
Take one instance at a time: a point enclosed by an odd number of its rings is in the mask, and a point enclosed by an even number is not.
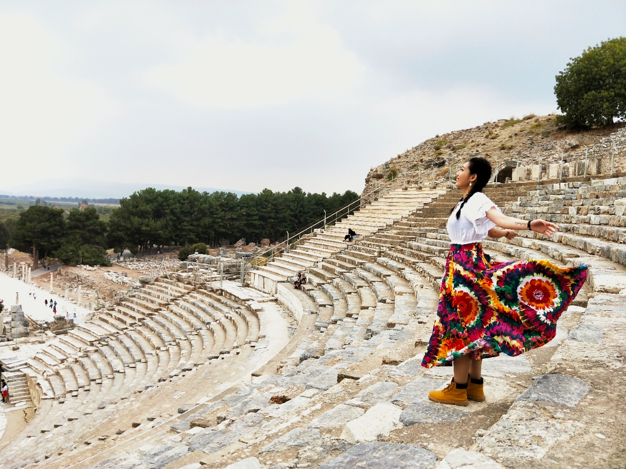
<svg viewBox="0 0 626 469"><path fill-rule="evenodd" d="M357 198L353 191L329 197L300 188L286 193L264 189L240 198L192 188L180 192L147 188L120 200L109 220L108 243L116 252L123 248L136 252L138 246L277 240L286 231L294 235L321 219L324 210L331 214Z"/></svg>

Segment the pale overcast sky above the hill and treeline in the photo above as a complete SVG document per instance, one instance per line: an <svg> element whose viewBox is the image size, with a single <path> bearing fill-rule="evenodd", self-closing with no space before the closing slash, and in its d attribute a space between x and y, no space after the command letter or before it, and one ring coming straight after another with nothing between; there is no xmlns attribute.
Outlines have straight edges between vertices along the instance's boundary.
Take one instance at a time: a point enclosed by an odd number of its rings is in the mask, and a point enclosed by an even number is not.
<svg viewBox="0 0 626 469"><path fill-rule="evenodd" d="M434 134L557 111L617 36L624 1L2 1L0 191L361 191Z"/></svg>

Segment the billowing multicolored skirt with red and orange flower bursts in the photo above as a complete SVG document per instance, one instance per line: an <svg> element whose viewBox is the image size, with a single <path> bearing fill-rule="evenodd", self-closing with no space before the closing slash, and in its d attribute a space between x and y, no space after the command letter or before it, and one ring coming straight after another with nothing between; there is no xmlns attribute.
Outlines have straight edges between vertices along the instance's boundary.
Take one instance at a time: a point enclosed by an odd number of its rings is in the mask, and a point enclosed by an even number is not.
<svg viewBox="0 0 626 469"><path fill-rule="evenodd" d="M422 366L520 355L545 345L557 320L587 280L587 266L548 261L495 263L481 243L451 245L437 318Z"/></svg>

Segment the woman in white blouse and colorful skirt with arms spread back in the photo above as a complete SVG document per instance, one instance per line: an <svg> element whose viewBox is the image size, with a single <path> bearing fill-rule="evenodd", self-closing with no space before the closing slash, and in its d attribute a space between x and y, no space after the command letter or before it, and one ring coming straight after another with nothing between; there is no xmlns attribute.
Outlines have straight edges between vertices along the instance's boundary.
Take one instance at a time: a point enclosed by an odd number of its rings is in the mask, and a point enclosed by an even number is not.
<svg viewBox="0 0 626 469"><path fill-rule="evenodd" d="M559 268L548 261L495 263L481 241L531 229L552 237L558 226L543 219L525 221L501 213L481 191L491 178L491 164L472 158L456 174L463 198L448 219L452 244L446 260L437 318L422 366L452 365L454 378L430 400L468 405L484 401L483 358L520 355L545 345L557 320L587 279L587 266ZM496 226L500 228L496 228Z"/></svg>

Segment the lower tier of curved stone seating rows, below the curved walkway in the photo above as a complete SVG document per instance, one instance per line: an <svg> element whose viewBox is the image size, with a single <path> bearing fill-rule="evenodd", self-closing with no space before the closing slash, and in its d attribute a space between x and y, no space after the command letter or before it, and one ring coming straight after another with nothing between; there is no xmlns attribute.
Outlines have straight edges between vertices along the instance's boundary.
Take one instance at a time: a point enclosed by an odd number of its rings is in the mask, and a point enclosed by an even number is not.
<svg viewBox="0 0 626 469"><path fill-rule="evenodd" d="M157 281L157 288L163 288L158 284ZM211 316L212 328L207 328L192 313L176 305L136 317L139 321L131 325L114 319L128 317L128 313L106 311L96 320L76 325L29 360L26 372L43 396L34 425L46 435L56 435L60 430L55 428L84 420L159 380L179 376L211 358L223 358L225 348L231 351L238 346L237 338L254 344L263 335L254 305L240 305L208 291L203 292L207 296L185 291L187 296L206 300L207 308L211 308L210 304L218 306L220 312L214 312L221 316L221 323ZM176 298L179 305L185 302L185 296ZM235 306L236 309L230 309ZM213 331L220 331L221 336Z"/></svg>

